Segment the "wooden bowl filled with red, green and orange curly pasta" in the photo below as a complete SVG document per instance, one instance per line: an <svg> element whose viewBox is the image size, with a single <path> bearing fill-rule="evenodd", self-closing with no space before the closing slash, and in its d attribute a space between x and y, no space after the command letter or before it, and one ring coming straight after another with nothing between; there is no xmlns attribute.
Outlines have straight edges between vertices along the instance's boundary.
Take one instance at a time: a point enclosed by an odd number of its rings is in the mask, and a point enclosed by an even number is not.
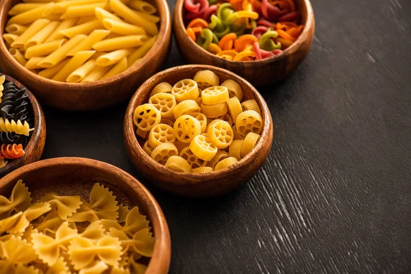
<svg viewBox="0 0 411 274"><path fill-rule="evenodd" d="M310 0L177 0L177 46L191 64L232 71L254 86L294 71L310 51Z"/></svg>

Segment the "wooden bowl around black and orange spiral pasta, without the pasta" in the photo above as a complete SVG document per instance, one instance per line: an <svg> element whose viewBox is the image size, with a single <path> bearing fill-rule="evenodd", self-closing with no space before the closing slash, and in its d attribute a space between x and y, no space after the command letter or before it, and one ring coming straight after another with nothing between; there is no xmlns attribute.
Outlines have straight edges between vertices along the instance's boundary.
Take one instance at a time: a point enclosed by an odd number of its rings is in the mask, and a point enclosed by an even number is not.
<svg viewBox="0 0 411 274"><path fill-rule="evenodd" d="M0 76L3 75L0 73ZM12 77L5 75L5 79L8 82L13 82L17 88L21 89L24 86L13 79ZM42 155L42 151L45 148L46 142L46 121L45 121L45 114L43 114L40 103L38 103L36 97L26 88L27 95L29 95L30 103L32 104L33 108L33 115L34 115L34 131L32 133L32 137L30 138L27 146L25 147L25 155L21 158L9 160L8 164L3 166L0 169L0 177L18 169L25 164L30 164L32 162L36 162L40 160Z"/></svg>

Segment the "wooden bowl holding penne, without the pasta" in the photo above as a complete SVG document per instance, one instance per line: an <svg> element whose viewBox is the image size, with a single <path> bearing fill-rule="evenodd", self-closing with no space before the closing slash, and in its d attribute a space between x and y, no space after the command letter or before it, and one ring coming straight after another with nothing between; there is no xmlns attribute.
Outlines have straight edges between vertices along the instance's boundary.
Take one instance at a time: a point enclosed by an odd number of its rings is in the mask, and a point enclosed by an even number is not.
<svg viewBox="0 0 411 274"><path fill-rule="evenodd" d="M1 1L0 36L3 37L8 11L19 0ZM19 64L0 39L0 66L3 72L13 75L30 88L36 97L47 105L63 110L95 110L114 105L132 96L136 87L157 72L166 59L171 40L171 15L166 0L154 0L158 6L160 33L145 57L119 75L97 82L72 84L55 82L40 77ZM155 60L155 62L153 62Z"/></svg>

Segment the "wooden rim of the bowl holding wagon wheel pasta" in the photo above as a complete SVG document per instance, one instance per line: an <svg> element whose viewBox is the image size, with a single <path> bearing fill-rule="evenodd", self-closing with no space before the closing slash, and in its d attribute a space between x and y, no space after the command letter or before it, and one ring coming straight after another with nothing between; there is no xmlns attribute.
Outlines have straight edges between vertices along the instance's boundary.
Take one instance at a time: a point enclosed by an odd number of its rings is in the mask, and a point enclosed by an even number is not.
<svg viewBox="0 0 411 274"><path fill-rule="evenodd" d="M261 116L264 121L264 125L262 127L262 132L260 133L260 139L258 140L256 147L253 148L251 152L249 152L244 158L240 159L238 162L233 164L232 166L228 166L225 169L221 169L219 171L212 171L208 173L190 173L190 172L177 172L173 171L169 168L166 168L166 166L155 162L141 147L140 143L137 140L137 136L134 131L134 123L132 119L132 115L134 113L134 109L136 108L136 101L138 97L145 96L147 93L151 92L147 91L145 92L145 87L151 84L152 82L155 83L160 83L162 82L162 78L164 75L169 75L171 73L179 73L179 71L184 71L184 70L190 70L192 68L195 69L200 69L200 70L211 70L214 73L217 72L217 75L226 75L229 77L229 79L234 79L236 82L241 82L242 85L249 86L251 89L251 92L253 95L256 97L256 101L260 107L261 110ZM220 77L220 76L219 76ZM240 86L242 86L240 84ZM238 169L241 169L242 167L247 166L249 163L253 162L253 158L256 156L258 151L262 149L264 146L264 141L266 138L269 138L270 135L270 129L272 130L273 128L273 121L271 118L271 112L269 110L268 105L266 104L266 101L260 95L260 92L256 90L256 88L251 85L246 79L240 77L239 75L236 75L235 73L232 73L231 71L228 71L226 69L221 69L216 66L210 66L210 65L202 65L202 64L188 64L188 65L183 65L183 66L174 66L173 68L166 69L164 71L161 71L160 73L157 73L153 76L151 76L147 81L145 81L139 88L136 90L134 93L132 99L130 99L129 105L127 106L127 110L125 112L125 121L124 121L124 137L127 142L130 144L130 149L134 151L140 158L144 158L144 160L149 164L152 169L155 170L160 170L164 173L167 174L172 174L174 176L179 176L182 177L182 179L195 179L195 183L193 184L201 184L203 181L208 181L210 179L220 179L222 177L225 177L227 173L233 173ZM265 160L265 159L264 159Z"/></svg>

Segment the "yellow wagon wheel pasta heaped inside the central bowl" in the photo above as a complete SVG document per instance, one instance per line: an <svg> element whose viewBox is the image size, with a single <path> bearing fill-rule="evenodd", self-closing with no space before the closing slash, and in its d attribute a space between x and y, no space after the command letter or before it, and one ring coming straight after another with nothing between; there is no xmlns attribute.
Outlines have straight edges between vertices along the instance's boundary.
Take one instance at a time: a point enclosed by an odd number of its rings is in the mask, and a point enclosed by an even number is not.
<svg viewBox="0 0 411 274"><path fill-rule="evenodd" d="M201 3L188 6L197 9ZM196 20L192 27L204 24ZM243 100L237 82L221 83L205 70L155 86L149 103L134 110L133 121L142 149L155 162L177 172L208 173L236 164L253 150L263 127L260 113L256 100Z"/></svg>

